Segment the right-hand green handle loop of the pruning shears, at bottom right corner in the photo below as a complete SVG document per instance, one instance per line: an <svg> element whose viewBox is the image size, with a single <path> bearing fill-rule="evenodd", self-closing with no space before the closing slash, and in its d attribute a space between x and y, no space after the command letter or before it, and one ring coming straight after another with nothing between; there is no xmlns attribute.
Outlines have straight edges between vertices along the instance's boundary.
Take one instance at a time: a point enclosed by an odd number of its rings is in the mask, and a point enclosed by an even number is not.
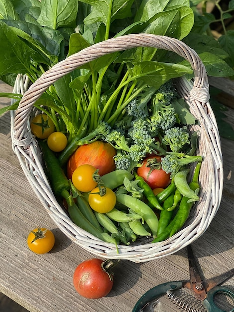
<svg viewBox="0 0 234 312"><path fill-rule="evenodd" d="M207 293L207 297L202 302L208 312L226 312L218 308L214 302L215 295L221 294L221 293L229 296L233 300L233 304L234 304L234 292L228 287L216 286ZM234 308L230 310L230 312L234 312Z"/></svg>

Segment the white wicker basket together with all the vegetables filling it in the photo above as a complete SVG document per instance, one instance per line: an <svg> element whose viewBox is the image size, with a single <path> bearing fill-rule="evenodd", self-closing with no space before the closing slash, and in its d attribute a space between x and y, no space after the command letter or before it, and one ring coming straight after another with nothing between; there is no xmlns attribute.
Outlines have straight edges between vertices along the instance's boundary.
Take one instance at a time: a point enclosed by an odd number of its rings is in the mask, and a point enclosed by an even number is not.
<svg viewBox="0 0 234 312"><path fill-rule="evenodd" d="M36 80L34 68L32 85L19 75L14 92L23 97L12 112L12 140L29 182L73 242L101 257L140 262L204 233L220 203L222 159L198 55L177 39L125 33L93 45L74 33L68 57ZM161 51L190 65L159 62ZM44 139L49 120L53 140ZM62 151L58 132L67 140ZM155 173L161 176L152 179Z"/></svg>

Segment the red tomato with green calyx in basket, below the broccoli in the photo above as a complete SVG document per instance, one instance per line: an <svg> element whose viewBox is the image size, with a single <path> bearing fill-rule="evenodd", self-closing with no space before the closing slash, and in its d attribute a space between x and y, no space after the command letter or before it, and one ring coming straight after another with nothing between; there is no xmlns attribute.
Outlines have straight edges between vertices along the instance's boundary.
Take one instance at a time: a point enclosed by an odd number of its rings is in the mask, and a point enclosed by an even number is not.
<svg viewBox="0 0 234 312"><path fill-rule="evenodd" d="M170 173L166 173L160 166L160 156L150 156L143 160L137 174L144 178L152 189L166 188L170 182Z"/></svg>

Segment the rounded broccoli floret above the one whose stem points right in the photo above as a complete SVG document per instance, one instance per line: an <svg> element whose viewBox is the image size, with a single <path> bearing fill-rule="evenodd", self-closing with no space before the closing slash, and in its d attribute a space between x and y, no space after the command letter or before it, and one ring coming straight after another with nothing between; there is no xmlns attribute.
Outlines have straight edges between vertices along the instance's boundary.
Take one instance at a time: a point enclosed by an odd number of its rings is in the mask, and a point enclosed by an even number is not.
<svg viewBox="0 0 234 312"><path fill-rule="evenodd" d="M169 145L172 152L179 152L189 141L189 133L186 127L173 127L165 131L162 142Z"/></svg>

